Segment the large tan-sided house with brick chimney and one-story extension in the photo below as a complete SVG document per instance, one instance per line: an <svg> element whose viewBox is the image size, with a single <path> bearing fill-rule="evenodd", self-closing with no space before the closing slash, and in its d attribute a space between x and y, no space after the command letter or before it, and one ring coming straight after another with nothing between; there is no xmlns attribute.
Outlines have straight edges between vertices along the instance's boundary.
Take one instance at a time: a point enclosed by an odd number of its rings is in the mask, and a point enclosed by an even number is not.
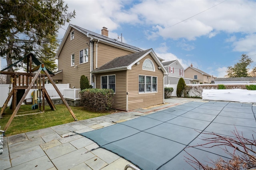
<svg viewBox="0 0 256 170"><path fill-rule="evenodd" d="M70 24L56 53L59 83L80 88L80 77L88 77L93 88L114 90L112 107L131 110L164 103L167 71L153 49L137 47Z"/></svg>

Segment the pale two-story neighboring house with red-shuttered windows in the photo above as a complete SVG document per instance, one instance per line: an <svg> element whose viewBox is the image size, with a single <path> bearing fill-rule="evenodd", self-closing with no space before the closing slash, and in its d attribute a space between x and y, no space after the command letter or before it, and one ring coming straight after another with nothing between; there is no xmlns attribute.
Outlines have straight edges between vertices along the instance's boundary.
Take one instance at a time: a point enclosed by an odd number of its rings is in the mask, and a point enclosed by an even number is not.
<svg viewBox="0 0 256 170"><path fill-rule="evenodd" d="M180 78L182 77L186 84L190 84L192 78L184 77L184 68L178 60L162 62L166 70L168 71L168 76L164 78L164 84L178 84Z"/></svg>

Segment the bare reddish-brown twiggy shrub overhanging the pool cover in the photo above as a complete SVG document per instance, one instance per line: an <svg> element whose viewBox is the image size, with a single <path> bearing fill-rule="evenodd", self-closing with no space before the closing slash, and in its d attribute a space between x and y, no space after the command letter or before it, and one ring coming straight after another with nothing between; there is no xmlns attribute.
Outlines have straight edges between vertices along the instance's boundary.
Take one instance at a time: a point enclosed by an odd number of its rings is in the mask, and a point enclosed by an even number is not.
<svg viewBox="0 0 256 170"><path fill-rule="evenodd" d="M254 132L255 133L255 132ZM252 139L247 139L243 134L238 133L234 130L232 134L234 137L221 136L216 133L203 133L206 135L212 135L211 138L202 139L206 141L203 145L197 145L195 147L201 146L204 148L212 147L223 147L224 151L232 156L230 160L224 160L219 158L218 160L211 160L213 166L204 164L196 159L195 156L189 154L192 158L186 157L186 162L190 164L194 169L203 170L248 170L256 168L256 141L254 135ZM228 150L227 147L231 147L233 150Z"/></svg>

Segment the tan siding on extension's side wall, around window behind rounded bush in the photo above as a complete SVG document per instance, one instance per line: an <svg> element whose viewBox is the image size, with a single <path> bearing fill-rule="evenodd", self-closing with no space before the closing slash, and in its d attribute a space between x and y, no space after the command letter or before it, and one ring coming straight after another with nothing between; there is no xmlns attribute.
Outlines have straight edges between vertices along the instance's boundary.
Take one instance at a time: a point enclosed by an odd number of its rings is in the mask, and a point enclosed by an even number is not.
<svg viewBox="0 0 256 170"><path fill-rule="evenodd" d="M126 70L96 74L96 88L101 88L101 76L116 75L116 94L112 107L126 110Z"/></svg>

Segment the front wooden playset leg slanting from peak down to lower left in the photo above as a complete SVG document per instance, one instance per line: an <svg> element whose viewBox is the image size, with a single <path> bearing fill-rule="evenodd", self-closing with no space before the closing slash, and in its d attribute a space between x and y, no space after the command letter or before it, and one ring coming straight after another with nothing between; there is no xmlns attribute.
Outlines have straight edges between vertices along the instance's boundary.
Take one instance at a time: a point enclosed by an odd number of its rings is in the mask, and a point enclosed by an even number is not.
<svg viewBox="0 0 256 170"><path fill-rule="evenodd" d="M20 99L20 102L18 103L17 107L15 108L15 110L13 111L10 119L8 120L8 122L6 123L5 127L4 127L4 131L6 131L8 129L8 127L10 126L10 124L12 123L12 120L14 118L14 116L16 115L16 113L18 112L18 110L20 109L20 106L22 104L22 102L24 101L24 99L26 98L26 96L28 95L29 90L32 88L34 82L36 81L36 78L38 77L38 75L40 74L40 71L38 71L35 75L35 77L33 78L33 80L31 81L30 85L28 86L28 89L25 91L24 95L22 96L22 98Z"/></svg>

